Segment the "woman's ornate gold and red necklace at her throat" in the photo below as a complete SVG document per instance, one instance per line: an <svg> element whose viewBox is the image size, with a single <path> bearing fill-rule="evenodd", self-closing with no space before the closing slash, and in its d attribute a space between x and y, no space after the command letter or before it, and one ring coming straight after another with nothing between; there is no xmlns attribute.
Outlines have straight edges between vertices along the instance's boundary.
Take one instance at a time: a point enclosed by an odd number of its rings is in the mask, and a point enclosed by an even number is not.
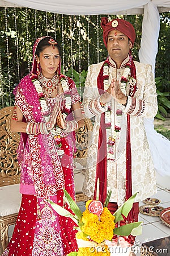
<svg viewBox="0 0 170 256"><path fill-rule="evenodd" d="M46 79L45 76L40 74L39 81L43 85L43 88L46 93L48 93L49 97L52 96L54 89L56 89L57 94L59 93L59 78L57 75L54 75L52 79Z"/></svg>

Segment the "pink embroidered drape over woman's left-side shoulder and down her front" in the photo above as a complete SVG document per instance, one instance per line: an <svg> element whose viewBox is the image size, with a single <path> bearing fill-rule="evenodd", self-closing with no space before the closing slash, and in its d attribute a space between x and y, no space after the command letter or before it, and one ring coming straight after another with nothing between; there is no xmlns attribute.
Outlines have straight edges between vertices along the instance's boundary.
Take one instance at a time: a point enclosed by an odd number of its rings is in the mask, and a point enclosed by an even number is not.
<svg viewBox="0 0 170 256"><path fill-rule="evenodd" d="M15 104L22 110L27 122L43 121L37 92L29 76L24 77L20 82ZM64 180L52 135L29 135L25 147L23 142L21 143L22 148L19 149L24 150L24 157L19 156L19 164L22 166L22 184L34 184L37 197L45 196L46 193L56 195L56 189L63 188ZM32 162L35 164L32 165Z"/></svg>

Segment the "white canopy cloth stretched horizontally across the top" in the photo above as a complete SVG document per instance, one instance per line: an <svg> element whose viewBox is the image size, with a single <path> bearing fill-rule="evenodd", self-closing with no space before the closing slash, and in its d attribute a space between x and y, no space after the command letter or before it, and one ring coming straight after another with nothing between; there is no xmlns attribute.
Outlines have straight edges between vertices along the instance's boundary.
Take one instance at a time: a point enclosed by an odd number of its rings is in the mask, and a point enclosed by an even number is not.
<svg viewBox="0 0 170 256"><path fill-rule="evenodd" d="M170 9L170 2L165 0L0 0L0 6L28 7L68 15L121 14L125 10L127 14L134 14L134 9L141 13L140 9L149 2Z"/></svg>

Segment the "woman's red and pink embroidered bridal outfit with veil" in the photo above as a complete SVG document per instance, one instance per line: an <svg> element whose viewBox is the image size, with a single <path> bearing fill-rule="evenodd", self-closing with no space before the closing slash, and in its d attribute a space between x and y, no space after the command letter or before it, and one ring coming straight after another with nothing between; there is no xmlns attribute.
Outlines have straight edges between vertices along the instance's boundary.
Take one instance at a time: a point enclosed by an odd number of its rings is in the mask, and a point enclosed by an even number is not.
<svg viewBox="0 0 170 256"><path fill-rule="evenodd" d="M42 122L43 115L31 75L36 67L36 46L33 49L31 74L25 76L15 89L15 105L18 105L27 122ZM71 104L80 100L74 81L65 77L71 89ZM65 108L65 96L58 96L61 112ZM53 109L56 98L48 98ZM71 111L70 111L71 112ZM75 223L59 216L48 200L63 207L63 188L75 199L73 177L73 134L61 138L59 156L51 134L21 134L18 148L18 162L22 171L20 192L22 203L11 241L3 255L52 256L66 255L76 251ZM68 209L67 205L65 208Z"/></svg>

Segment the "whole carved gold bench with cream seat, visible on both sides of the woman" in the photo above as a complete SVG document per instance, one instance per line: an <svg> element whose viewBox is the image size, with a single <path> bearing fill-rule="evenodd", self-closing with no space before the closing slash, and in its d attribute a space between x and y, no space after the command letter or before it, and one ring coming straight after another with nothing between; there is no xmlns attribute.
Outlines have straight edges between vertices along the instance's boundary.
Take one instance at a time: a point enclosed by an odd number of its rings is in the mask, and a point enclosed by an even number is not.
<svg viewBox="0 0 170 256"><path fill-rule="evenodd" d="M14 107L0 110L0 255L8 245L8 227L15 224L18 216L21 194L19 193L20 170L16 160L16 150L20 135L10 131L10 119ZM87 201L81 189L86 168L88 137L92 123L84 119L84 127L76 132L75 192L76 202Z"/></svg>

